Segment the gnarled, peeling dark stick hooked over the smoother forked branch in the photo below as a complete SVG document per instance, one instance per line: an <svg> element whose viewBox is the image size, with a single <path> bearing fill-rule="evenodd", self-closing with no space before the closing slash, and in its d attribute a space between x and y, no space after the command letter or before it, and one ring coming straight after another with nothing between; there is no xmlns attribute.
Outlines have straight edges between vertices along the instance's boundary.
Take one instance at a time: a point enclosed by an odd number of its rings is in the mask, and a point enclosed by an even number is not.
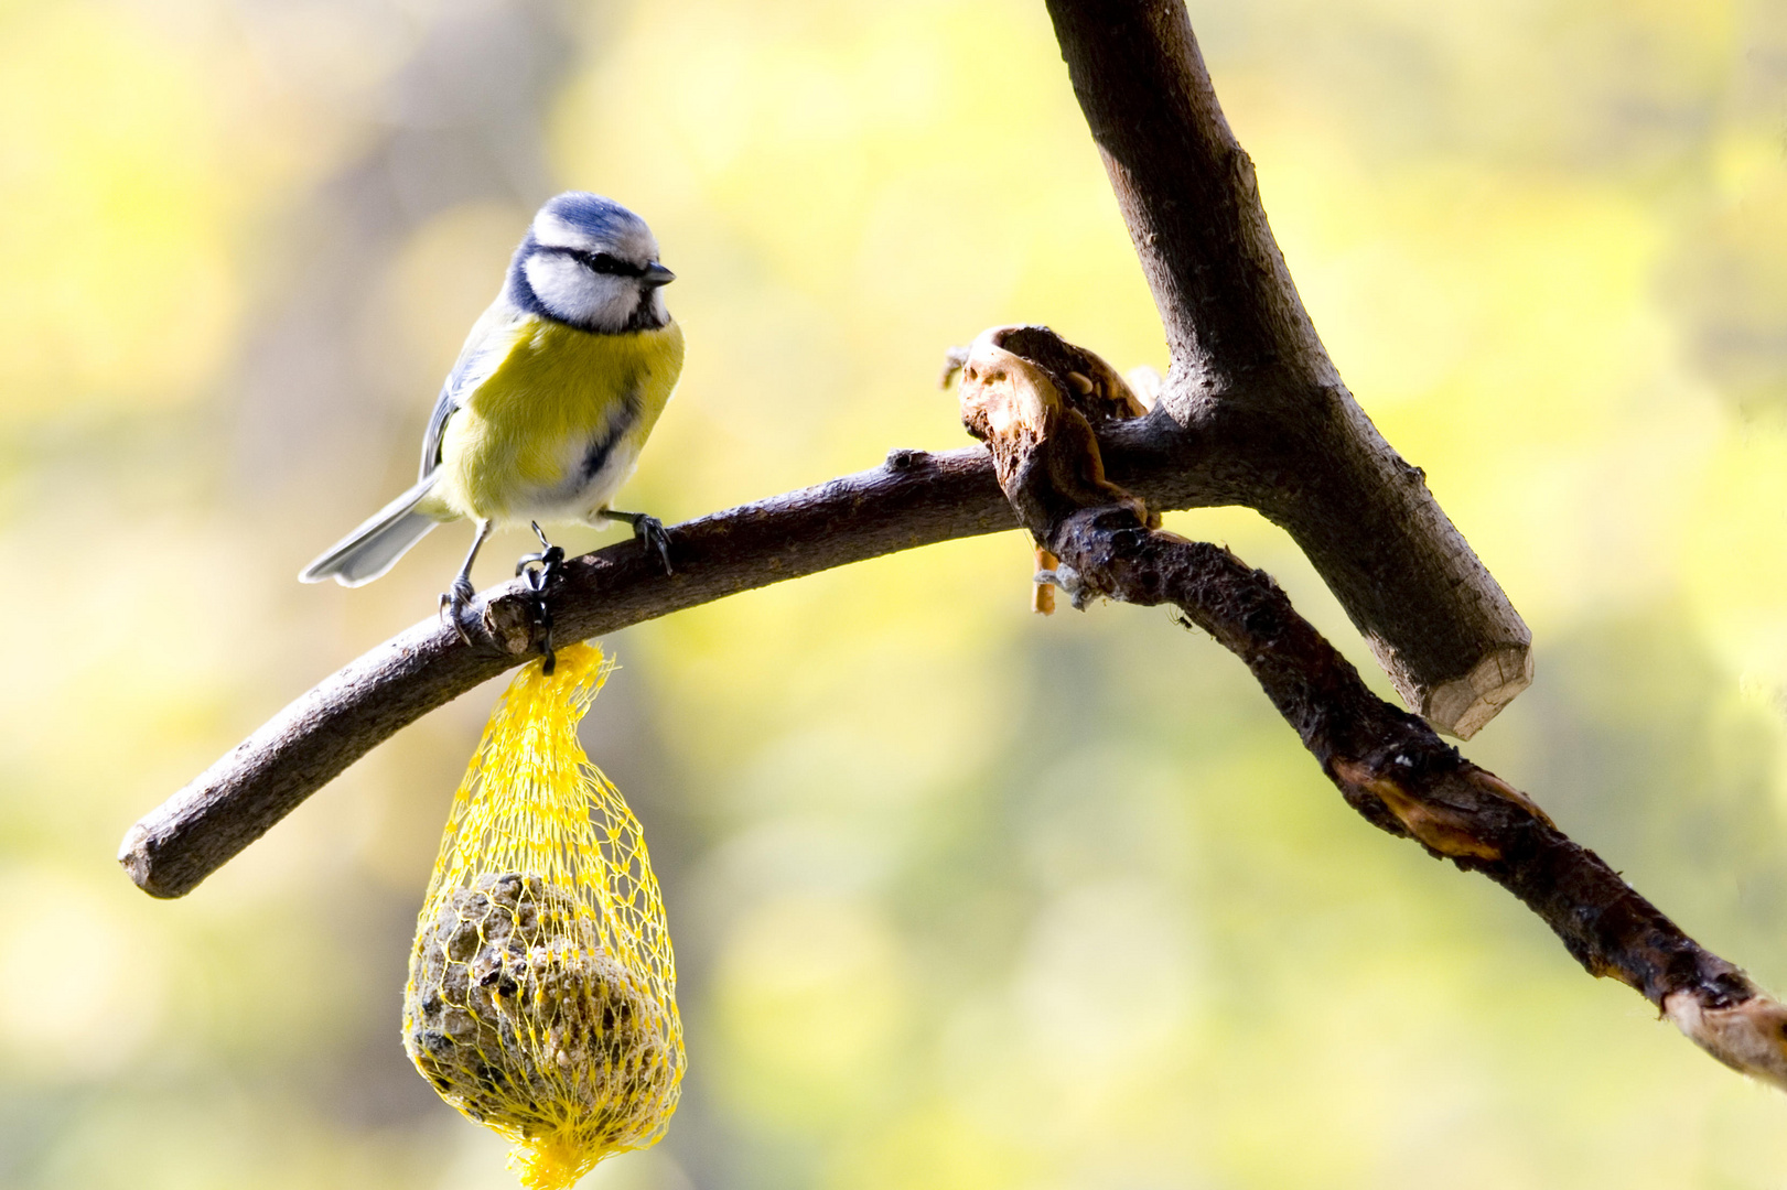
<svg viewBox="0 0 1787 1190"><path fill-rule="evenodd" d="M1322 774L1372 825L1481 872L1537 913L1592 976L1658 1006L1719 1061L1787 1090L1787 1006L1687 936L1519 790L1478 768L1419 717L1378 699L1263 570L1149 525L1103 468L1088 407L1033 354L976 343L961 409L988 441L1001 490L1060 565L1038 579L1076 606L1174 604L1240 658ZM1095 393L1092 393L1095 397Z"/></svg>

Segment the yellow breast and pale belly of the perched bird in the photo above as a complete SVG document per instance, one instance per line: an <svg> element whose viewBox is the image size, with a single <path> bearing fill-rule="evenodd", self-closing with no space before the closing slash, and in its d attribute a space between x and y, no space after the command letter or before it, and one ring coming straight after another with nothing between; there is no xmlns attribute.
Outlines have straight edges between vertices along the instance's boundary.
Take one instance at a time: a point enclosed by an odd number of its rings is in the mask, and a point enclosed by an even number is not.
<svg viewBox="0 0 1787 1190"><path fill-rule="evenodd" d="M575 500L588 445L638 454L683 370L683 329L591 334L524 320L502 363L441 436L436 499L461 516L525 520ZM624 475L622 475L624 479Z"/></svg>

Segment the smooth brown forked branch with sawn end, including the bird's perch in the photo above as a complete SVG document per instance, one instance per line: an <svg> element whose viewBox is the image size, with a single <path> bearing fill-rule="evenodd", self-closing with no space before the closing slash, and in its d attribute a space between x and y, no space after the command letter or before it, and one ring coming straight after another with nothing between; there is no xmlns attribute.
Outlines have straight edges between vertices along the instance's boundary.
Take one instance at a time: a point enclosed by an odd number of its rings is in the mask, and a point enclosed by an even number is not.
<svg viewBox="0 0 1787 1190"><path fill-rule="evenodd" d="M1156 509L1246 504L1283 525L1408 706L1469 738L1531 679L1530 634L1419 468L1335 375L1183 5L1051 0L1049 13L1172 348L1156 409L1099 427L1110 475ZM895 452L886 466L679 525L674 577L634 547L583 557L550 609L561 640L588 638L1011 525L985 454ZM516 584L474 609L475 645L429 620L289 704L132 827L120 863L150 893L191 890L375 743L538 645Z"/></svg>

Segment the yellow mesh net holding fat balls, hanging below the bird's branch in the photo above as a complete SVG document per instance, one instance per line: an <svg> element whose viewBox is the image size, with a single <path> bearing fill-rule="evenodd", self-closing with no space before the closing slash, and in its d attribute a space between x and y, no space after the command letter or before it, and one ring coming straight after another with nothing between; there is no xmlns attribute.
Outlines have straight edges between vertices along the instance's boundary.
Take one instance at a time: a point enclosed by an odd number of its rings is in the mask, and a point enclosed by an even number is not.
<svg viewBox="0 0 1787 1190"><path fill-rule="evenodd" d="M577 743L590 645L509 684L454 797L404 990L404 1049L515 1145L529 1190L656 1142L675 1111L675 960L640 824Z"/></svg>

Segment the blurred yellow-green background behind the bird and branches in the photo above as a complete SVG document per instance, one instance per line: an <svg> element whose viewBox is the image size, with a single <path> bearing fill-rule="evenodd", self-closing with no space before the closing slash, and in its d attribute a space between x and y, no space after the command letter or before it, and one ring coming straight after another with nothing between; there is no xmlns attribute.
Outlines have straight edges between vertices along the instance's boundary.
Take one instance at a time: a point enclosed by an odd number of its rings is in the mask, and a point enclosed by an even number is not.
<svg viewBox="0 0 1787 1190"><path fill-rule="evenodd" d="M1531 624L1465 752L1787 990L1787 4L1194 0L1285 256ZM533 207L643 213L688 366L627 507L965 440L942 350L1162 334L1038 0L0 0L0 1186L513 1185L399 1002L495 688L191 897L125 827L427 616L397 493ZM1251 513L1169 518L1271 568ZM565 534L588 547L602 534ZM479 582L527 549L484 552ZM681 960L631 1190L1783 1186L1787 1101L1347 811L1231 658L1017 534L606 641Z"/></svg>

